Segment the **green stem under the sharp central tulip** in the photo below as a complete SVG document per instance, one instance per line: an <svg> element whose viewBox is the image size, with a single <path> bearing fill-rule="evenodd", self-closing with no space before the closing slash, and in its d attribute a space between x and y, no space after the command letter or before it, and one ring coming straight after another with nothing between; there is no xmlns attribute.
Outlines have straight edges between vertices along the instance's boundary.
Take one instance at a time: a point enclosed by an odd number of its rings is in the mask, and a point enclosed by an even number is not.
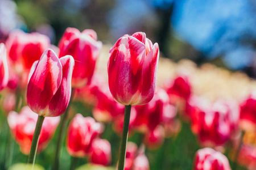
<svg viewBox="0 0 256 170"><path fill-rule="evenodd" d="M129 133L130 114L131 114L131 105L126 105L125 117L123 118L123 131L122 131L122 138L121 138L118 170L125 169L125 155L126 155L127 139L128 139L128 133Z"/></svg>

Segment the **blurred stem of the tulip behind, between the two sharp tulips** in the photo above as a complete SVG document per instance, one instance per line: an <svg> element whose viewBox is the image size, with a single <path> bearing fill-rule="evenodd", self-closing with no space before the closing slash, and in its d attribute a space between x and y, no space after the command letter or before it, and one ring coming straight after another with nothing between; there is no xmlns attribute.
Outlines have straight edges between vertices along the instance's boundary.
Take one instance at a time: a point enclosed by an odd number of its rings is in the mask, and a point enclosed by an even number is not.
<svg viewBox="0 0 256 170"><path fill-rule="evenodd" d="M68 112L70 105L73 100L73 96L75 94L75 88L72 88L71 97L69 100L69 104L65 112L63 113L61 122L60 122L60 130L59 130L59 136L57 137L57 143L56 143L56 151L55 151L55 159L53 163L52 169L58 170L59 169L59 163L60 163L60 155L61 155L61 148L63 146L63 141L65 137L65 133L67 131L67 124L68 124Z"/></svg>

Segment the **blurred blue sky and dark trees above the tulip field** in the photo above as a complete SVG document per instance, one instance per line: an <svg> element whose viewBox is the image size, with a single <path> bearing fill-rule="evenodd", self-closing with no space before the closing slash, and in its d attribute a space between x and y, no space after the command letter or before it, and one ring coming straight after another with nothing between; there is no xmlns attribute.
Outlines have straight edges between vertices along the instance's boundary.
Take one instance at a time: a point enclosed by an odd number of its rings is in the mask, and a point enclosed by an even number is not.
<svg viewBox="0 0 256 170"><path fill-rule="evenodd" d="M14 28L47 34L57 44L65 28L92 28L114 43L143 31L164 57L245 70L255 77L254 0L1 0L0 37Z"/></svg>

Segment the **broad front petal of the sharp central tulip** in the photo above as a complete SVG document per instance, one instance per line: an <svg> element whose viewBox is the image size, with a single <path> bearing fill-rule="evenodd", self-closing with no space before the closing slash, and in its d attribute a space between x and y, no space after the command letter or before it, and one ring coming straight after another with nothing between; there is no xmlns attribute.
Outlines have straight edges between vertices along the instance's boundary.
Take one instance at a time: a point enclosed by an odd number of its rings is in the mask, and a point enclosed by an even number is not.
<svg viewBox="0 0 256 170"><path fill-rule="evenodd" d="M135 37L124 36L110 49L109 55L110 92L119 103L129 105L141 87L146 46Z"/></svg>

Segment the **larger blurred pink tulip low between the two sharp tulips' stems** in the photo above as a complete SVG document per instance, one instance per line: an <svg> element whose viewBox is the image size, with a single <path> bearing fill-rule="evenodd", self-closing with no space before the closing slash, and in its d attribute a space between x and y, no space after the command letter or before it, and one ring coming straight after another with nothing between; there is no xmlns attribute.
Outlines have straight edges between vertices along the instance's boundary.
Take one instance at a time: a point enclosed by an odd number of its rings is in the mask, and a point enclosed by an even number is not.
<svg viewBox="0 0 256 170"><path fill-rule="evenodd" d="M102 133L102 126L92 117L77 113L67 131L67 150L74 157L85 157L95 138Z"/></svg>

